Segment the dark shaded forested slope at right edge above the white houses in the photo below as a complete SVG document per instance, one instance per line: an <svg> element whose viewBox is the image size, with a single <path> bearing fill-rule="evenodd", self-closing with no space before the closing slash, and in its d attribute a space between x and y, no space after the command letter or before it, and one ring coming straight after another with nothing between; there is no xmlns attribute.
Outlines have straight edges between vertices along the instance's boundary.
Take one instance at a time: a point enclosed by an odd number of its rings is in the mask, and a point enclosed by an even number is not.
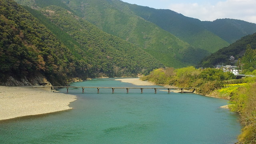
<svg viewBox="0 0 256 144"><path fill-rule="evenodd" d="M210 56L207 56L200 62L199 66L213 67L217 64L222 65L222 62L224 65L230 64L230 61L228 60L230 56L234 56L236 60L242 58L248 44L250 44L252 49L256 49L256 33L244 36L240 40L230 44L230 46L222 48Z"/></svg>

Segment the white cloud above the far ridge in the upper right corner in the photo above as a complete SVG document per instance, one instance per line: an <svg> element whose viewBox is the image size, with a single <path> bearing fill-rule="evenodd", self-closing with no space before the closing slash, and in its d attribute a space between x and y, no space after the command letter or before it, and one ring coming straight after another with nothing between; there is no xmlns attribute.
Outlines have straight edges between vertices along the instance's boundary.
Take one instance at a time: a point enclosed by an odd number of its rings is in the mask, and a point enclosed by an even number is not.
<svg viewBox="0 0 256 144"><path fill-rule="evenodd" d="M176 3L171 4L169 9L200 20L234 18L256 23L256 0L226 0L216 4Z"/></svg>

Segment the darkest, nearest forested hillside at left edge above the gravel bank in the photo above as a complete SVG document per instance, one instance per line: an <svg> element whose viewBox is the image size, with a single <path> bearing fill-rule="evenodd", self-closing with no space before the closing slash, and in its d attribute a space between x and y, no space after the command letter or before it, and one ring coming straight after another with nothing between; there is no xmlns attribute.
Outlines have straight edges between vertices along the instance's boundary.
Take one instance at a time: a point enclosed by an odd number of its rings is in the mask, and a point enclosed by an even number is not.
<svg viewBox="0 0 256 144"><path fill-rule="evenodd" d="M45 76L64 84L86 78L88 63L78 60L44 25L12 0L0 0L0 78ZM89 70L88 70L89 72Z"/></svg>

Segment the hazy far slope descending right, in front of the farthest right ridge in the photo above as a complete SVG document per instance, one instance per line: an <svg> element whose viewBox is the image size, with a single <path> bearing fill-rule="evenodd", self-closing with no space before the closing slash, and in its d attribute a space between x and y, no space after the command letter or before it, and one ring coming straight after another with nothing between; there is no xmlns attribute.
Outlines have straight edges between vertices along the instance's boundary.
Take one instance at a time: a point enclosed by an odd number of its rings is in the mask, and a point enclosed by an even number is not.
<svg viewBox="0 0 256 144"><path fill-rule="evenodd" d="M162 29L196 48L216 52L220 48L229 45L219 36L206 30L198 19L188 18L172 10L154 9L136 4L127 5L138 16L157 24Z"/></svg>

